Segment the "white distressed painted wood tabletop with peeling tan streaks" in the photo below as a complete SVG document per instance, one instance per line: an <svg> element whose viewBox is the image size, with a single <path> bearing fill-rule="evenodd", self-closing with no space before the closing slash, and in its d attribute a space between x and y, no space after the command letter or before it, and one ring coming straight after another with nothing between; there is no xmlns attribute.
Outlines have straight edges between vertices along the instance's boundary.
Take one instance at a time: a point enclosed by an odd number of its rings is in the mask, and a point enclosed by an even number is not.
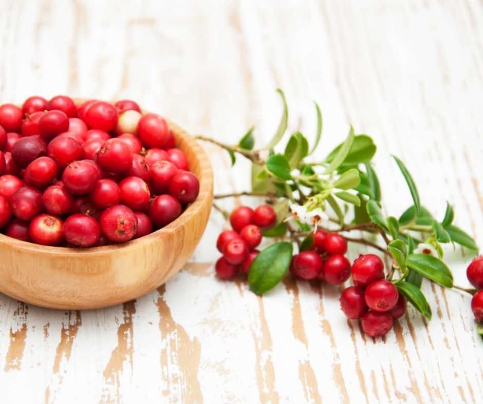
<svg viewBox="0 0 483 404"><path fill-rule="evenodd" d="M281 87L290 129L308 137L311 100L320 103L320 155L349 123L375 138L391 214L410 203L394 153L423 203L442 216L452 201L481 243L482 38L476 0L4 0L0 99L129 97L235 142L252 124L271 136ZM229 171L227 155L207 148L216 191L247 189L248 165ZM481 402L483 345L467 296L426 284L433 320L410 310L373 342L345 320L337 289L287 281L258 298L218 281L223 226L213 212L192 264L135 302L61 312L0 296L1 401ZM467 285L471 257L449 259Z"/></svg>

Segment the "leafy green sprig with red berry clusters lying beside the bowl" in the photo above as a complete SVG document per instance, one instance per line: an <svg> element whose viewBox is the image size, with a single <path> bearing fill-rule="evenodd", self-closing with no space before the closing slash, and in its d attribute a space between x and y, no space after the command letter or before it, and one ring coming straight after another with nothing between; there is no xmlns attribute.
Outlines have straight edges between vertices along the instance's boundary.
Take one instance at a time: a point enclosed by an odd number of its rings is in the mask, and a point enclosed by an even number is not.
<svg viewBox="0 0 483 404"><path fill-rule="evenodd" d="M253 196L266 202L255 210L241 206L231 213L214 204L230 219L233 229L221 232L217 239L222 253L215 266L218 276L232 279L242 272L257 294L274 288L289 269L296 278L319 279L330 285L344 284L352 277L354 286L341 294L342 311L350 319L360 319L363 331L373 337L391 330L393 322L406 311L406 301L431 318L431 306L421 291L425 278L474 295L472 310L483 336L483 290L455 286L443 261L445 244L477 250L473 238L453 225L452 206L447 204L443 219L436 219L422 206L410 172L394 156L413 204L398 218L385 216L379 179L371 163L376 153L371 137L356 134L350 127L344 142L323 160L313 157L323 126L317 104L312 147L301 132L295 132L280 149L288 126L288 108L283 92L277 91L282 97L283 114L266 146L254 149L253 128L233 146L197 136L227 150L232 164L237 155L252 162L252 189L215 195L215 199ZM360 236L349 236L350 232ZM263 237L275 243L258 251ZM375 254L360 255L351 264L345 256L347 243L381 252L388 258L386 265ZM475 288L483 289L483 258L472 262L468 278Z"/></svg>

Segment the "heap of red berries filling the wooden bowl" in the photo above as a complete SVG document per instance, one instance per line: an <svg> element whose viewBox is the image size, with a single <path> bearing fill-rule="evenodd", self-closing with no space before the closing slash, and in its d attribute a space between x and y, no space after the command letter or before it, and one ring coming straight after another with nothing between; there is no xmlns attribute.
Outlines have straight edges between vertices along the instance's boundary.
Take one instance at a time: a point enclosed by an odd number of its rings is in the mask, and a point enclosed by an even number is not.
<svg viewBox="0 0 483 404"><path fill-rule="evenodd" d="M165 120L130 100L0 106L0 230L48 246L124 243L169 224L198 179Z"/></svg>

